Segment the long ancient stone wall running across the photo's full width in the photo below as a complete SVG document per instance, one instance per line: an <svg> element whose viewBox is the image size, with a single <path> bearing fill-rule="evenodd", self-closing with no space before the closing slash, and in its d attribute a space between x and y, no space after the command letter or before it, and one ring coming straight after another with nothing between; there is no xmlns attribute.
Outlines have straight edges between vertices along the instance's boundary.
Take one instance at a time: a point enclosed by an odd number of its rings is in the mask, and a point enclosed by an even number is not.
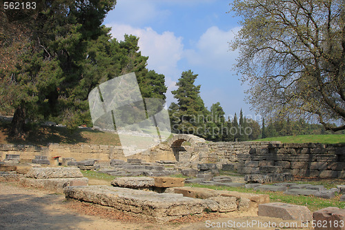
<svg viewBox="0 0 345 230"><path fill-rule="evenodd" d="M7 154L19 154L22 162L35 155L73 157L75 160L126 160L139 158L146 162L177 160L179 162L213 162L219 168L252 174L259 166L282 166L283 172L300 177L345 178L345 144L281 144L280 142L199 142L194 146L171 148L159 144L143 153L125 157L120 146L92 144L49 144L49 146L0 145L0 160ZM60 158L60 159L61 159Z"/></svg>

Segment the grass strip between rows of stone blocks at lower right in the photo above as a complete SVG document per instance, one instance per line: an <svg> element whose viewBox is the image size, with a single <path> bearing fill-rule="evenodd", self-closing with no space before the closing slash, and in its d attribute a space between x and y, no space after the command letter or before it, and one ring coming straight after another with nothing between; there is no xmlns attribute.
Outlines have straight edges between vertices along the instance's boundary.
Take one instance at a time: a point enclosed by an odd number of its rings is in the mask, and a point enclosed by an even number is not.
<svg viewBox="0 0 345 230"><path fill-rule="evenodd" d="M224 191L237 191L240 193L257 193L267 194L270 196L271 202L283 202L288 204L297 204L308 207L312 212L326 207L338 207L339 209L345 209L345 202L339 201L340 195L336 195L333 199L317 198L312 195L286 195L283 192L271 192L271 191L255 191L253 189L246 189L241 187L229 187L229 186L214 186L206 184L188 184L188 186L197 188L207 188Z"/></svg>

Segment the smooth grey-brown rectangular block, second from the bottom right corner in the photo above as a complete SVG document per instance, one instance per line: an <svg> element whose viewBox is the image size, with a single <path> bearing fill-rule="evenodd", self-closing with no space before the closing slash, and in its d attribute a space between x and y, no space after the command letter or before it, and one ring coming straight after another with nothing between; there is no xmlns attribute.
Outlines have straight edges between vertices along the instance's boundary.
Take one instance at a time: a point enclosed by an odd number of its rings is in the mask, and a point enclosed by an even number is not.
<svg viewBox="0 0 345 230"><path fill-rule="evenodd" d="M279 202L259 204L258 215L300 222L311 222L313 220L313 215L307 207Z"/></svg>

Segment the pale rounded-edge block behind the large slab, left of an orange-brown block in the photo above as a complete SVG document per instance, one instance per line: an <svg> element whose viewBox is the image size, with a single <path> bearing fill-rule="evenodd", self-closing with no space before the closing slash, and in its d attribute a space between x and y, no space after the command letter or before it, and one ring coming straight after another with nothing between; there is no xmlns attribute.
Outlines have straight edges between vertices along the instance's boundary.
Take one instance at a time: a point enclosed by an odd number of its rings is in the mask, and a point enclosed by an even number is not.
<svg viewBox="0 0 345 230"><path fill-rule="evenodd" d="M146 177L122 177L115 178L110 182L112 186L130 188L130 189L144 189L155 186L155 179Z"/></svg>

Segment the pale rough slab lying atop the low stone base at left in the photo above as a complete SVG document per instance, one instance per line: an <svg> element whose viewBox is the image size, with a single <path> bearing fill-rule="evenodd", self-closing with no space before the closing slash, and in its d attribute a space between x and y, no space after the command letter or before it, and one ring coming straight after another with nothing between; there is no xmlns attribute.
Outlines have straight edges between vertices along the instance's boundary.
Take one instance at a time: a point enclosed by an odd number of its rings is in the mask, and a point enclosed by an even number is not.
<svg viewBox="0 0 345 230"><path fill-rule="evenodd" d="M48 179L48 178L82 178L80 169L72 167L33 167L28 173L28 178Z"/></svg>

